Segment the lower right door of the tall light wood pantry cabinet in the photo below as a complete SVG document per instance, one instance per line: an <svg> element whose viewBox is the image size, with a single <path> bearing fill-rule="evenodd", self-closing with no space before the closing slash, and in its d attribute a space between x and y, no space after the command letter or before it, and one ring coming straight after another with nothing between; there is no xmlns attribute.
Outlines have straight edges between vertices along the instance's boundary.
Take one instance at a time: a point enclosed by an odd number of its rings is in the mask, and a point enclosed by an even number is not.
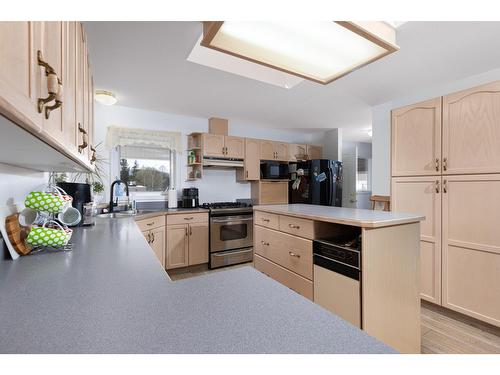
<svg viewBox="0 0 500 375"><path fill-rule="evenodd" d="M500 175L443 176L443 306L500 326Z"/></svg>

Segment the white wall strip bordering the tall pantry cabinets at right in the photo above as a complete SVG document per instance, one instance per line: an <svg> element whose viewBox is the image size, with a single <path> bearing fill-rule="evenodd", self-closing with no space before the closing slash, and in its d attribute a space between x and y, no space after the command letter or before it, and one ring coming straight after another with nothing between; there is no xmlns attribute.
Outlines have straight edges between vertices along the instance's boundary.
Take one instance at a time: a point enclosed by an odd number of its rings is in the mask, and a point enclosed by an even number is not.
<svg viewBox="0 0 500 375"><path fill-rule="evenodd" d="M497 80L500 80L500 68L447 84L428 87L425 90L408 93L408 95L401 95L401 98L373 107L373 194L390 195L391 192L390 160L392 109Z"/></svg>

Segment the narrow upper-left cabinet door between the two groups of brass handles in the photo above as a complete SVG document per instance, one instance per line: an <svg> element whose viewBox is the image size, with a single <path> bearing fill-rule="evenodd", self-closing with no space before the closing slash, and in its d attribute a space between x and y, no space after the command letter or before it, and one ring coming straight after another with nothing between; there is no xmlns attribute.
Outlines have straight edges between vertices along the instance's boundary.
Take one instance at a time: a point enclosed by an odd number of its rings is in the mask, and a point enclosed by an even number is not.
<svg viewBox="0 0 500 375"><path fill-rule="evenodd" d="M78 126L76 119L77 26L77 22L63 23L63 133L66 148L74 154L77 154L78 148Z"/></svg>

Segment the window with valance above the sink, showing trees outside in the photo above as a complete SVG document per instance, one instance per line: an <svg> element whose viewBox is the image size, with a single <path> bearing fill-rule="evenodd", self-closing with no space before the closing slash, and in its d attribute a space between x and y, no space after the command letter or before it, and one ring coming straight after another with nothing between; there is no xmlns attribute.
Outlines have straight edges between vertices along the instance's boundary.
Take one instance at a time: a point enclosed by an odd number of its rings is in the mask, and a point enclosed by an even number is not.
<svg viewBox="0 0 500 375"><path fill-rule="evenodd" d="M162 193L170 187L172 152L148 146L121 146L120 179L130 192Z"/></svg>

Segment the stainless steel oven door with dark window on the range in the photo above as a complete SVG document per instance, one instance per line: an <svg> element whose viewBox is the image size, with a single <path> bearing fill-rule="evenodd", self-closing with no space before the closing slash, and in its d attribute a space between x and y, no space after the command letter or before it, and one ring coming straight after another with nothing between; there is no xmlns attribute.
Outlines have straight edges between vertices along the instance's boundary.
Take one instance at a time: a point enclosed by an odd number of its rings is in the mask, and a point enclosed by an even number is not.
<svg viewBox="0 0 500 375"><path fill-rule="evenodd" d="M210 218L210 252L253 245L253 215Z"/></svg>

